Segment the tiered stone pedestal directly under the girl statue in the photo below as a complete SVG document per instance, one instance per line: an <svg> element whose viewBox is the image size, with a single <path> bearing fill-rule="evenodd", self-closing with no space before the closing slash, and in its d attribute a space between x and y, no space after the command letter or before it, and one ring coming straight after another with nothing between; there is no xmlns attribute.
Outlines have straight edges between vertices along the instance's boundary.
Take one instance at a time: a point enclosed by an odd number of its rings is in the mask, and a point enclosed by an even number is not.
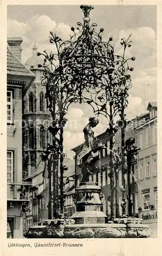
<svg viewBox="0 0 162 256"><path fill-rule="evenodd" d="M107 216L101 211L100 191L96 182L82 182L76 189L77 211L71 217L75 224L106 223Z"/></svg>

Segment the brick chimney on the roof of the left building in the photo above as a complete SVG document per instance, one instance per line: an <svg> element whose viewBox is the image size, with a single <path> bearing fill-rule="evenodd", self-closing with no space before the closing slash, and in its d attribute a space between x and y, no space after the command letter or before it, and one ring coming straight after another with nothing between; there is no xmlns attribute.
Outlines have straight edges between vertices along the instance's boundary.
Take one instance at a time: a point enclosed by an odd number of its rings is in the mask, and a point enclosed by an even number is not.
<svg viewBox="0 0 162 256"><path fill-rule="evenodd" d="M21 37L8 37L7 42L10 46L12 53L21 60Z"/></svg>

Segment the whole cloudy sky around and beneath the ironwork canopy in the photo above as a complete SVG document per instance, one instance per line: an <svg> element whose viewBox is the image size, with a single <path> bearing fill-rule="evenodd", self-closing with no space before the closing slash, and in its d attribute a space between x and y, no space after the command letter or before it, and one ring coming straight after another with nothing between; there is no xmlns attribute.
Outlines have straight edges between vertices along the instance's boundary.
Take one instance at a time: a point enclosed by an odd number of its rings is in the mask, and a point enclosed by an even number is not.
<svg viewBox="0 0 162 256"><path fill-rule="evenodd" d="M54 51L49 42L49 33L54 31L63 40L70 38L71 27L82 22L83 13L76 5L9 5L8 36L21 36L22 62L32 55L34 41L38 51ZM149 101L156 101L156 6L94 6L90 23L97 23L97 30L104 28L103 38L113 37L115 53L121 53L120 40L132 33L132 47L128 57L135 56L131 63L132 88L129 91L127 119L146 112ZM72 156L71 148L84 141L83 127L94 116L89 105L73 104L67 114L64 132L65 151ZM106 120L99 116L100 124L94 129L96 135L106 130Z"/></svg>

